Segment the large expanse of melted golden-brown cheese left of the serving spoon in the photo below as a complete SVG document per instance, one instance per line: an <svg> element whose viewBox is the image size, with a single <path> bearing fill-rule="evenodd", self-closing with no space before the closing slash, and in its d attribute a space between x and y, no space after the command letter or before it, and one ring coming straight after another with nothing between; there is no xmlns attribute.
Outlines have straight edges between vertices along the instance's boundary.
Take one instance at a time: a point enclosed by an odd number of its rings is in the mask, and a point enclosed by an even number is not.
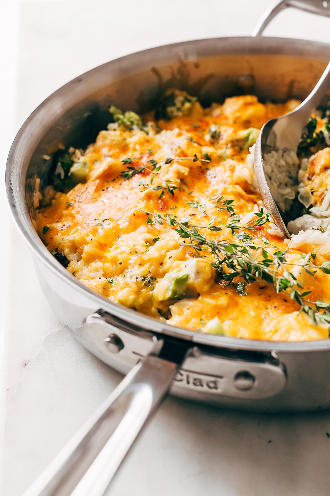
<svg viewBox="0 0 330 496"><path fill-rule="evenodd" d="M208 112L195 104L190 117L158 122L162 129L158 134L122 126L100 131L84 154L90 164L87 183L67 194L57 192L50 206L38 210L39 235L48 249L65 254L70 260L68 270L83 284L111 301L166 318L168 324L209 332L208 323L218 318L228 335L239 338L328 338L327 326L315 326L304 313L298 314L300 307L287 295L276 295L272 288L257 282L246 286L247 295L239 295L232 284L215 281L210 249L203 247L204 258L196 258L189 240L180 238L165 222L151 223L153 218L143 212L175 214L179 219L192 216L199 226L216 215L218 223L226 223L230 218L227 210L215 208L223 195L224 200L234 200L235 212L243 219L262 204L246 162L249 150L244 130L260 129L268 119L298 104L263 105L247 95L228 98L223 106L214 104ZM205 159L205 153L211 157L210 163L185 159ZM145 170L127 181L120 176L127 169L122 160L141 155L133 163L136 168L152 159L181 158L162 165L152 184L161 186L169 181L178 187L173 196L165 192L160 197L160 190L141 185L144 181L150 186L152 176ZM205 207L189 206L191 201ZM49 229L43 234L45 226ZM267 228L268 223L252 233L254 243L264 247L267 238L268 248L285 249L283 239L269 234ZM239 243L236 234L226 228L208 237ZM287 258L299 263L300 253L289 249ZM173 272L185 270L190 274L185 297L164 299L165 282ZM329 301L329 276L318 271L312 277L299 267L295 270L297 279L312 290L311 299Z"/></svg>

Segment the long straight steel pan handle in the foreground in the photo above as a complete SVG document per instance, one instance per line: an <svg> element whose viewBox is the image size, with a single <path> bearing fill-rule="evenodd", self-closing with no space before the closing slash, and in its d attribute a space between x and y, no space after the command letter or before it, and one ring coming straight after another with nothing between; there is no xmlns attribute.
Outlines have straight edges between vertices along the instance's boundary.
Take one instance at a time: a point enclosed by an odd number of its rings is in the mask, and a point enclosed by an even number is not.
<svg viewBox="0 0 330 496"><path fill-rule="evenodd" d="M23 496L103 495L189 351L171 338L154 342Z"/></svg>

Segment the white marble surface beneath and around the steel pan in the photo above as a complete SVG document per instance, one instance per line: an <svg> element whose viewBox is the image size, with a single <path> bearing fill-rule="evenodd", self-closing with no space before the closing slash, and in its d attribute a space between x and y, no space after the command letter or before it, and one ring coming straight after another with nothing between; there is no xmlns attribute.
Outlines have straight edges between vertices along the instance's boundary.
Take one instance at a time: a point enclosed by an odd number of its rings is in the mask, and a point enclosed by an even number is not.
<svg viewBox="0 0 330 496"><path fill-rule="evenodd" d="M1 57L8 71L2 81L1 109L8 118L1 121L1 180L15 131L60 85L95 65L151 46L248 35L270 4L268 0L4 1ZM330 19L287 11L267 33L330 42ZM1 187L5 208L3 180ZM8 215L3 229L10 242L1 247L1 256L8 260L0 279L5 310L1 494L19 496L121 375L63 328L39 288L31 254ZM330 412L267 416L167 397L108 495L329 495L327 432Z"/></svg>

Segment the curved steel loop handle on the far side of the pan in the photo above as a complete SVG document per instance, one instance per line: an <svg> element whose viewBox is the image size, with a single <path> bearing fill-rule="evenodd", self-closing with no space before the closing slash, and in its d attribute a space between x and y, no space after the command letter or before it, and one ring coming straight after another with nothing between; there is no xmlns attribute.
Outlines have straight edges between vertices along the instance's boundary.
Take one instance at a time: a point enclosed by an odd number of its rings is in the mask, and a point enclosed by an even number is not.
<svg viewBox="0 0 330 496"><path fill-rule="evenodd" d="M284 8L288 7L304 10L304 12L309 12L311 14L330 17L330 0L282 0L264 13L254 28L252 36L261 36L271 20L274 19L279 12L284 10Z"/></svg>

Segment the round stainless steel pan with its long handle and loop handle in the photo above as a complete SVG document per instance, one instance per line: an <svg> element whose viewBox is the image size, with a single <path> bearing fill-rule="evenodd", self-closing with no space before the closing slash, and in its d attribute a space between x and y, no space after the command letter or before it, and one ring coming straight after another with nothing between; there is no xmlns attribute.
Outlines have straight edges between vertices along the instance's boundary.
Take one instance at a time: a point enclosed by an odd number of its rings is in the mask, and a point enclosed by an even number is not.
<svg viewBox="0 0 330 496"><path fill-rule="evenodd" d="M322 1L279 5L292 4L330 16L330 6ZM102 495L168 390L246 410L330 407L330 340L277 343L205 335L116 305L66 271L31 221L34 176L47 184L50 161L43 156L58 142L75 147L93 142L108 122L111 104L145 111L160 90L173 85L198 93L205 103L244 91L262 100L305 98L330 59L330 45L261 37L274 13L276 9L255 37L167 45L96 67L48 97L19 130L8 157L7 195L17 228L33 252L42 289L75 338L127 374L26 496L72 491L76 496Z"/></svg>

